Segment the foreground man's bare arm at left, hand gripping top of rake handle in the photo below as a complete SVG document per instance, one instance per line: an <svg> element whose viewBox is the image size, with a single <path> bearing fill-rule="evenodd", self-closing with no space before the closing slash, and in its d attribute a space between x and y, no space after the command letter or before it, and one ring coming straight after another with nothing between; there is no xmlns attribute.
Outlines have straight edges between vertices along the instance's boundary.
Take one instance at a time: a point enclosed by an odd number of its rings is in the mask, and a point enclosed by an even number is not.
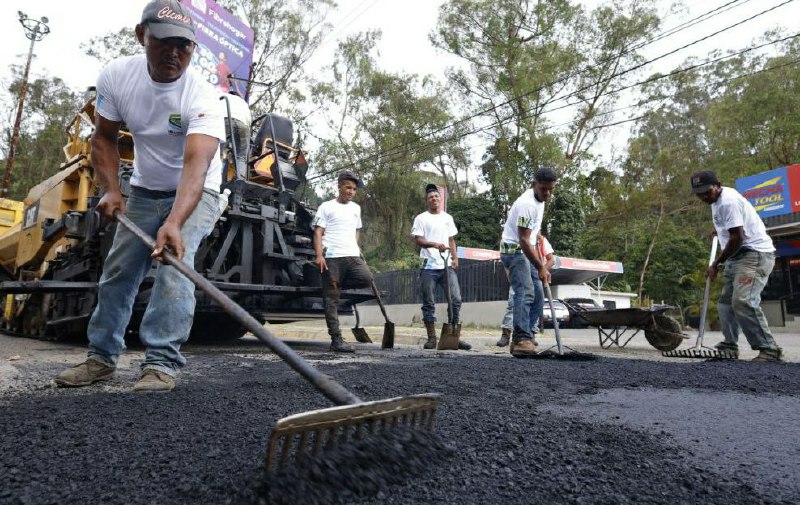
<svg viewBox="0 0 800 505"><path fill-rule="evenodd" d="M100 114L95 115L92 134L92 166L103 197L97 211L103 217L114 219L114 211L125 213L125 199L119 188L119 130L122 122L109 121Z"/></svg>

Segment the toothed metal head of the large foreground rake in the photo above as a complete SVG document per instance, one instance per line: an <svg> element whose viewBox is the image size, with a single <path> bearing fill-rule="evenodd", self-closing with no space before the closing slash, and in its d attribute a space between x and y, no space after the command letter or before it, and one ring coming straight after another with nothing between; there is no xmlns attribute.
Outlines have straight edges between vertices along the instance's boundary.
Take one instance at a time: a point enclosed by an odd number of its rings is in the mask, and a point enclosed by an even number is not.
<svg viewBox="0 0 800 505"><path fill-rule="evenodd" d="M430 430L441 396L403 396L312 410L279 419L267 444L267 473L321 451L398 427Z"/></svg>

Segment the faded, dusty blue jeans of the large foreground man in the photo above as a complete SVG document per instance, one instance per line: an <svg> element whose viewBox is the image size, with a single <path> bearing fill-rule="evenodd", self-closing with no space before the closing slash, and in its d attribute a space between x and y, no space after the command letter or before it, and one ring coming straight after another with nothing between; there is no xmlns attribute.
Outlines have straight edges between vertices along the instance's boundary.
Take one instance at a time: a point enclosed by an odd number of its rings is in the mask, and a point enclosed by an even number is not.
<svg viewBox="0 0 800 505"><path fill-rule="evenodd" d="M201 200L183 224L186 246L183 262L194 268L200 242L219 218L218 196L203 191ZM132 188L125 215L151 237L155 237L169 215L174 196ZM97 307L89 321L89 357L116 366L125 351L125 329L133 303L153 264L152 250L136 235L117 226L114 243L103 265ZM150 301L139 326L139 339L147 346L142 369L153 368L174 376L186 364L180 346L189 338L194 317L194 284L174 267L158 263Z"/></svg>

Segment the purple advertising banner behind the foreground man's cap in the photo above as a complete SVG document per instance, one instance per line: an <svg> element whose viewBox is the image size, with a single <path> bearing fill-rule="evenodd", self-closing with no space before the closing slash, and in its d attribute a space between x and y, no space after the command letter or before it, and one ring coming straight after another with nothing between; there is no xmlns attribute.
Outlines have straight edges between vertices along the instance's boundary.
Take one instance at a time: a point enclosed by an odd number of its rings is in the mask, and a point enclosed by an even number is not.
<svg viewBox="0 0 800 505"><path fill-rule="evenodd" d="M253 30L213 0L181 0L192 12L197 48L192 66L220 93L236 91L245 100L253 62Z"/></svg>

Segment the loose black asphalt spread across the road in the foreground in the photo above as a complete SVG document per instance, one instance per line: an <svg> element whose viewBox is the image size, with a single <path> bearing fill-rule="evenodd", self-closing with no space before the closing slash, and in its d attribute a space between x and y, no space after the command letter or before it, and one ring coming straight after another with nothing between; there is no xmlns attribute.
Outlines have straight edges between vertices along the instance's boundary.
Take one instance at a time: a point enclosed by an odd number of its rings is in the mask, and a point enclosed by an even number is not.
<svg viewBox="0 0 800 505"><path fill-rule="evenodd" d="M31 370L39 387L0 399L0 503L800 501L738 463L712 464L667 426L552 411L612 388L679 391L687 415L696 392L796 400L798 365L359 356L306 353L364 399L442 393L435 434L398 432L272 477L275 421L329 406L283 363L193 356L178 389L160 395L41 387L58 370Z"/></svg>

